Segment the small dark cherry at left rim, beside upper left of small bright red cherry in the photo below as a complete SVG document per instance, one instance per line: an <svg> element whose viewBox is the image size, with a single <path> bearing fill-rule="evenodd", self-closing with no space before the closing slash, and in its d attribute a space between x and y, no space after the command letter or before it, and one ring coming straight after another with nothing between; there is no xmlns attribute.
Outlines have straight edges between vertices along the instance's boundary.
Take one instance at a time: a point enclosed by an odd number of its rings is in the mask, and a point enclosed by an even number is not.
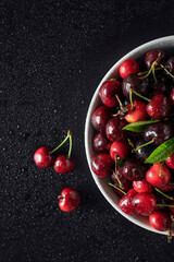
<svg viewBox="0 0 174 262"><path fill-rule="evenodd" d="M107 139L104 132L98 132L94 139L94 147L98 152L109 151L111 147L111 142Z"/></svg>

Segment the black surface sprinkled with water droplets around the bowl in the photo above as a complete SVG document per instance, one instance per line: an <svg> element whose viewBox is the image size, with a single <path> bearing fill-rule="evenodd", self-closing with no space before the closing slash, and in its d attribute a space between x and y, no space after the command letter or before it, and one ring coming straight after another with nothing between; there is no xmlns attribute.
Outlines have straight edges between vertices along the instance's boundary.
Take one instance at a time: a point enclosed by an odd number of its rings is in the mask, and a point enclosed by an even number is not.
<svg viewBox="0 0 174 262"><path fill-rule="evenodd" d="M98 83L133 48L174 33L173 1L1 0L0 20L0 261L174 261L174 242L104 200L84 148ZM67 129L75 170L38 169L34 152ZM70 214L57 201L67 186L83 198Z"/></svg>

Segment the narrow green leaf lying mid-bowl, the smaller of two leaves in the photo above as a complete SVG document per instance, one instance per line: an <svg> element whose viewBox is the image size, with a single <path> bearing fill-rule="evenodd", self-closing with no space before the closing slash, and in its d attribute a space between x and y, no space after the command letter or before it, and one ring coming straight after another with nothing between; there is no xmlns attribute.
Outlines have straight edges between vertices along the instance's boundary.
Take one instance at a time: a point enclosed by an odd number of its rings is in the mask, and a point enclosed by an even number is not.
<svg viewBox="0 0 174 262"><path fill-rule="evenodd" d="M159 122L160 120L147 120L147 121L139 121L134 122L125 126L123 130L128 130L132 132L142 132L149 124Z"/></svg>

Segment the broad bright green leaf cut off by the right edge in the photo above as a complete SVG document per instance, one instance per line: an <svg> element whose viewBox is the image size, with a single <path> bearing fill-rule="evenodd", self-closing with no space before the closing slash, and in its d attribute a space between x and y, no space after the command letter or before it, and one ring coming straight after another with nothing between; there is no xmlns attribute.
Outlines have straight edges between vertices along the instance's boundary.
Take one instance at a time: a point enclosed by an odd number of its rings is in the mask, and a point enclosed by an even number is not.
<svg viewBox="0 0 174 262"><path fill-rule="evenodd" d="M174 153L174 138L165 141L163 144L159 145L150 156L145 160L145 163L160 163L165 160L170 155Z"/></svg>

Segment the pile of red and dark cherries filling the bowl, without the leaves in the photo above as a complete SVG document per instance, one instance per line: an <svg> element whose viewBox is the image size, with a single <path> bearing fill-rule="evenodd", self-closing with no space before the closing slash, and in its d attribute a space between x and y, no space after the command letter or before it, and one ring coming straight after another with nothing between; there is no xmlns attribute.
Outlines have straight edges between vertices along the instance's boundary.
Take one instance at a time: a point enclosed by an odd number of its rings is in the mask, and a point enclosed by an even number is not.
<svg viewBox="0 0 174 262"><path fill-rule="evenodd" d="M91 169L100 178L112 179L110 184L121 195L119 206L123 212L149 216L153 228L171 234L174 153L164 163L149 165L145 160L174 136L174 57L150 50L142 64L126 59L119 72L117 79L100 86L103 105L91 116L97 131ZM149 124L141 132L123 130L129 123L147 120Z"/></svg>

